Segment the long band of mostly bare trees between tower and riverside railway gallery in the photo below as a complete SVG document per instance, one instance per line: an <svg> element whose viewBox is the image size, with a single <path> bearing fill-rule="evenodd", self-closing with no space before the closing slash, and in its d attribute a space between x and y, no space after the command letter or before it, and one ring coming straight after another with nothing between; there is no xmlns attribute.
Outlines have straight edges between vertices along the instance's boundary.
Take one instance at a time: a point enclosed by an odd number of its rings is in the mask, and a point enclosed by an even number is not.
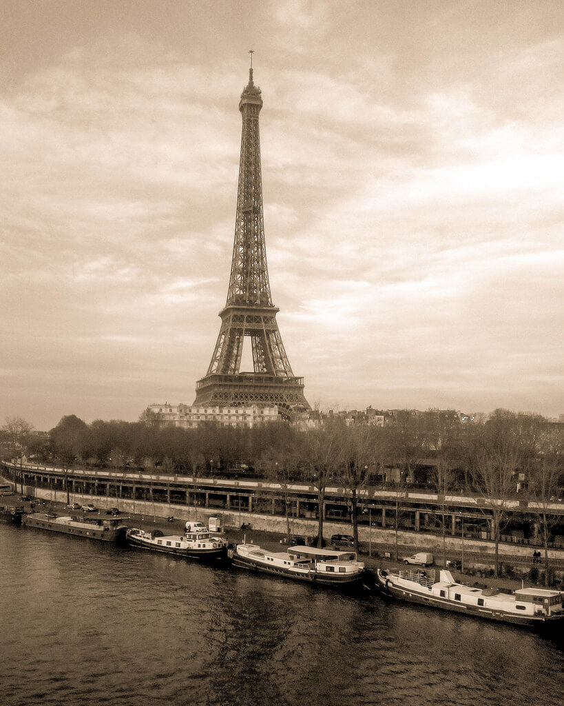
<svg viewBox="0 0 564 706"><path fill-rule="evenodd" d="M521 498L534 501L547 566L548 544L562 521L553 503L563 497L564 425L505 409L474 420L461 420L455 413L403 410L383 427L347 426L336 416L307 431L288 424L248 429L210 423L180 429L162 426L146 410L136 422L97 419L86 424L71 414L45 438L31 432L31 425L20 418L8 418L2 429L5 443L39 461L62 465L66 472L80 464L268 479L281 487L288 534L288 485L306 482L317 491L319 542L321 508L330 485L348 491L356 545L362 488L384 483L396 490L396 546L402 493L413 484L431 489L443 515L443 554L446 496L455 490L478 493L496 544L496 574L498 544L517 489Z"/></svg>

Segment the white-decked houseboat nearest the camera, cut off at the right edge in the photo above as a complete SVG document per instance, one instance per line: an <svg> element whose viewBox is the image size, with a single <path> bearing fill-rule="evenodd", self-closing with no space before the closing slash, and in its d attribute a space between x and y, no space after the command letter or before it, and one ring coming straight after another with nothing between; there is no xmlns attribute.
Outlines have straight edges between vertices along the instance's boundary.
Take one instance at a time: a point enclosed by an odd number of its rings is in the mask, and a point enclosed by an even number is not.
<svg viewBox="0 0 564 706"><path fill-rule="evenodd" d="M386 594L411 603L523 626L564 624L564 594L558 591L535 587L508 594L474 588L455 582L450 571L435 569L378 569L376 579Z"/></svg>

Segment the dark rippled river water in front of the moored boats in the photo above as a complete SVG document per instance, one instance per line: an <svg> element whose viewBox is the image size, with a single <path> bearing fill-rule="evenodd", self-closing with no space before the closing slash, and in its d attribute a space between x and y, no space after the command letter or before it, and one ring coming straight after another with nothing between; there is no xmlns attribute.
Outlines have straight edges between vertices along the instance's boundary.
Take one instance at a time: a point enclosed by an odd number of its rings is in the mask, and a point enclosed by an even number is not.
<svg viewBox="0 0 564 706"><path fill-rule="evenodd" d="M0 703L560 706L564 642L0 525Z"/></svg>

